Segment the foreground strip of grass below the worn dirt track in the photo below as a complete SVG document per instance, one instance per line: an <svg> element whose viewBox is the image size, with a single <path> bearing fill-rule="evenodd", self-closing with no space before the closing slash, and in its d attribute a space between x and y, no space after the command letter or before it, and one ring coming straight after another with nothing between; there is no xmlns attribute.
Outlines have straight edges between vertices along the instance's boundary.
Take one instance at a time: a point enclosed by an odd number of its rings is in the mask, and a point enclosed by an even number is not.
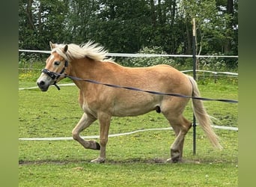
<svg viewBox="0 0 256 187"><path fill-rule="evenodd" d="M237 168L230 164L71 162L19 169L19 186L237 186Z"/></svg>

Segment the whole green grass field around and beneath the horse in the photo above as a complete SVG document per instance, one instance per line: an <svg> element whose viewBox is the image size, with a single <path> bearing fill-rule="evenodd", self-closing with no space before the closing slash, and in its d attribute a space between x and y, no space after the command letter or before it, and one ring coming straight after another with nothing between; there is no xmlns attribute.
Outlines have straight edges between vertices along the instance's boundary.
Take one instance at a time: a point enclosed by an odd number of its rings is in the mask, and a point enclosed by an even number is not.
<svg viewBox="0 0 256 187"><path fill-rule="evenodd" d="M68 81L66 81L68 82ZM35 86L19 79L19 88ZM234 82L199 84L201 95L237 99ZM19 138L70 137L82 109L78 89L63 87L19 91ZM237 104L204 102L219 126L238 126ZM192 120L191 104L185 115ZM169 127L162 114L113 117L110 134ZM105 164L91 164L97 150L85 150L76 141L19 141L19 186L237 186L238 132L216 129L224 147L214 150L197 128L197 154L192 154L192 129L186 135L184 163L170 164L171 130L138 132L109 138ZM96 121L82 135L98 135Z"/></svg>

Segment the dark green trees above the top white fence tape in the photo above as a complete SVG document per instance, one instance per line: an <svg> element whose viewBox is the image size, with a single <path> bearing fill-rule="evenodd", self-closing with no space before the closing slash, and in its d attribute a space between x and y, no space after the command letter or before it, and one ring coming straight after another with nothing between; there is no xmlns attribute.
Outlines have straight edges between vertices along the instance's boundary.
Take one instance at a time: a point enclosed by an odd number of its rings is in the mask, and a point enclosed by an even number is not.
<svg viewBox="0 0 256 187"><path fill-rule="evenodd" d="M109 52L159 46L198 55L237 55L238 0L19 0L19 49L94 40Z"/></svg>

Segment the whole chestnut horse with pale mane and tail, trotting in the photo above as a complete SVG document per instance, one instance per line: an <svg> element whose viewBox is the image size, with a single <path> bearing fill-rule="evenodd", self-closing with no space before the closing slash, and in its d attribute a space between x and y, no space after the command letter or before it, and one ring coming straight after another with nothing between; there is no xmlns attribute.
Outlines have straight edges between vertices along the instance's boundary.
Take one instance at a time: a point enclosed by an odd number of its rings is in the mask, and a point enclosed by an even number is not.
<svg viewBox="0 0 256 187"><path fill-rule="evenodd" d="M156 110L162 113L176 138L171 144L171 158L168 162L181 162L183 143L192 123L183 117L189 98L131 91L97 85L82 79L91 79L111 85L138 88L161 93L179 93L185 96L200 96L198 85L174 67L156 65L153 67L123 67L106 59L107 51L97 43L89 41L83 45L51 43L51 55L46 67L37 79L41 91L56 85L65 77L76 77L73 82L79 88L79 104L84 111L79 123L72 131L73 139L86 149L100 150L100 156L91 162L106 161L106 144L112 116L138 116ZM57 85L56 85L57 86ZM219 138L211 127L211 120L201 100L192 99L192 108L198 123L214 147L222 148ZM100 122L100 144L86 141L79 135L95 120Z"/></svg>

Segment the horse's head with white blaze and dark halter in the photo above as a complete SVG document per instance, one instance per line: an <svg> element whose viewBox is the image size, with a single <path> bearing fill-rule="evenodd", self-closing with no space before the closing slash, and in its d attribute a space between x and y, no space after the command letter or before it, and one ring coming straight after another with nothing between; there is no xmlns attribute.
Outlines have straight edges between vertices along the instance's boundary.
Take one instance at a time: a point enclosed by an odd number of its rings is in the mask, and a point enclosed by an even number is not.
<svg viewBox="0 0 256 187"><path fill-rule="evenodd" d="M49 44L52 49L51 55L47 58L46 67L37 79L37 85L41 91L47 91L50 85L58 88L56 83L64 79L68 66L66 56L68 46L59 46L51 42Z"/></svg>

